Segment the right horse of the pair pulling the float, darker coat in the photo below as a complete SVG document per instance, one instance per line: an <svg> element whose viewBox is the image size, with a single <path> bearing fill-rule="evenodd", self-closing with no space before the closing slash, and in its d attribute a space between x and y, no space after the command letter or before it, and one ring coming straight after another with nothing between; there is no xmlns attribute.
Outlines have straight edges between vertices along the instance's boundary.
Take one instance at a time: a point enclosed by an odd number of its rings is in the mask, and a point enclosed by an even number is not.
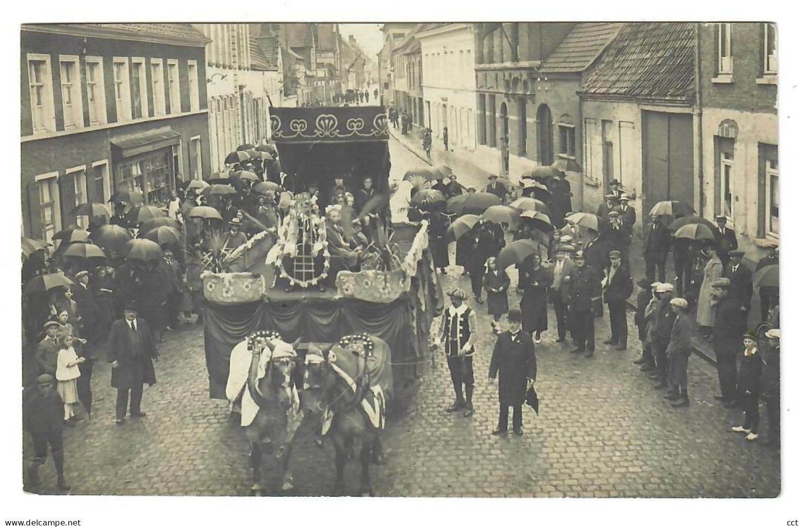
<svg viewBox="0 0 803 527"><path fill-rule="evenodd" d="M321 432L335 447L334 493L344 493L344 468L354 440L361 443L360 495L373 496L370 464L383 464L379 433L393 395L390 351L380 338L349 335L327 351L311 347L305 359L304 407L320 419Z"/></svg>

